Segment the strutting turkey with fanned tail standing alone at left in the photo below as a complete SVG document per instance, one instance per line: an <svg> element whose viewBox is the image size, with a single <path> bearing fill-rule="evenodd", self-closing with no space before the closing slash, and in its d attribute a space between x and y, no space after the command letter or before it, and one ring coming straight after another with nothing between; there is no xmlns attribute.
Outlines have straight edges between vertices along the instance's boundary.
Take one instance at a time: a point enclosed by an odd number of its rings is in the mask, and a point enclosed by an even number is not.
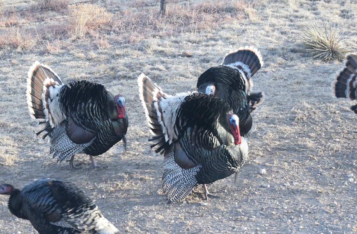
<svg viewBox="0 0 357 234"><path fill-rule="evenodd" d="M69 160L74 166L76 153L101 155L115 143L123 140L126 150L128 117L125 99L108 92L101 84L73 81L63 84L58 75L47 65L35 62L27 78L27 105L32 118L45 123L42 138L50 137L53 158L57 162Z"/></svg>

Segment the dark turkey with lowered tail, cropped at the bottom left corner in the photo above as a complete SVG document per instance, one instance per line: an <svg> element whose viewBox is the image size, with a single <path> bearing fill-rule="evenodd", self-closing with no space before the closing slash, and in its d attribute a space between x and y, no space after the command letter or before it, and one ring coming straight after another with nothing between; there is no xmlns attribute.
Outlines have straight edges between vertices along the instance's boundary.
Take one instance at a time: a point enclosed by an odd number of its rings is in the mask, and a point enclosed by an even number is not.
<svg viewBox="0 0 357 234"><path fill-rule="evenodd" d="M22 191L4 184L0 194L10 195L10 212L40 234L121 234L83 190L64 180L39 179Z"/></svg>

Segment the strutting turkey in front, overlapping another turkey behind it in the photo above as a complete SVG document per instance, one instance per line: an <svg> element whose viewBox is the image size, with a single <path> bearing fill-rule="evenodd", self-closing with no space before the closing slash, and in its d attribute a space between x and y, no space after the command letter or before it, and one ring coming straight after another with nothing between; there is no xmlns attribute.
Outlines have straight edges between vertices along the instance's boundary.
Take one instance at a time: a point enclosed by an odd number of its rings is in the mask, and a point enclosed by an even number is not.
<svg viewBox="0 0 357 234"><path fill-rule="evenodd" d="M167 200L182 201L196 184L232 175L245 164L248 145L239 119L221 98L199 92L165 94L150 78L138 78L139 96L154 135L151 146L164 153Z"/></svg>

